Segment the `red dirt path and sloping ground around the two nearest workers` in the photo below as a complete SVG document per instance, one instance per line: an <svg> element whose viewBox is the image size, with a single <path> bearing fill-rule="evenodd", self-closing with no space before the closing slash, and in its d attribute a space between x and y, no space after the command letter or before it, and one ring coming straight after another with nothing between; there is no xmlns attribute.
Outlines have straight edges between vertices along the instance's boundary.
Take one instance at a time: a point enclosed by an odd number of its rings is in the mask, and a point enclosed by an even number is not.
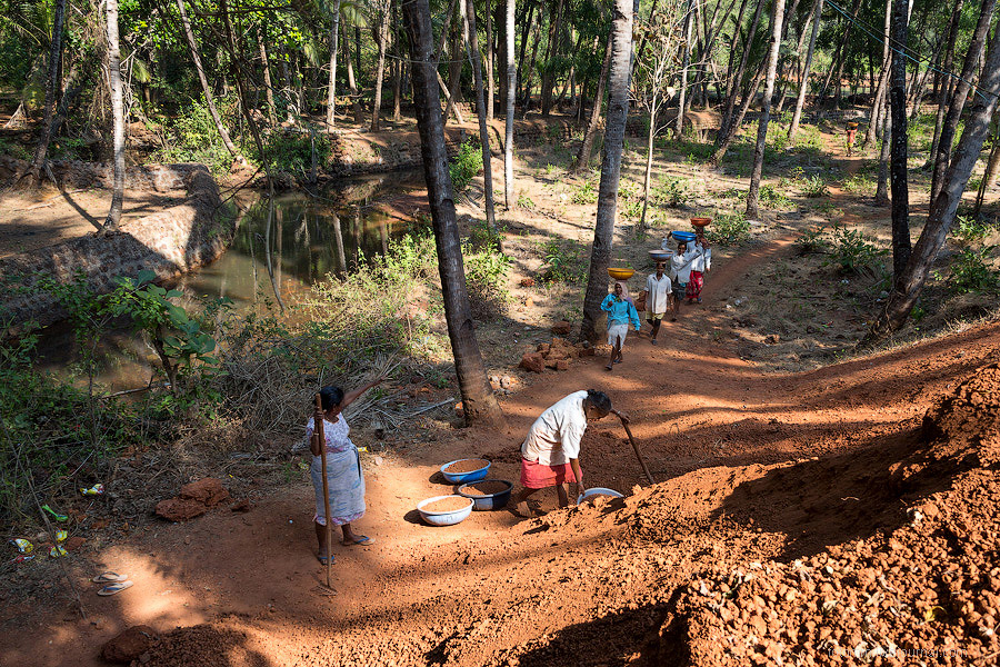
<svg viewBox="0 0 1000 667"><path fill-rule="evenodd" d="M711 327L708 307L723 286L738 282L754 262L787 251L789 242L717 267L707 280L704 310L683 309L679 322L667 325L660 347L631 337L624 362L612 374L602 359L584 358L569 374L547 376L554 381L512 396L504 404L507 432L457 431L369 465L369 511L358 528L377 544L337 549L338 596L311 590L322 569L312 556L312 489L303 482L249 514L217 510L102 552L99 565L130 573L136 586L97 598L94 586L80 581L98 626L61 609L43 627L17 631L16 621L8 623L0 665L96 664L103 641L139 623L167 633L147 664L186 667L773 664L782 651L797 656L791 664L852 664L853 655L827 651L829 638L842 638L837 646L853 650L848 645L853 633L861 637L862 626L838 628L850 615L817 611L816 601L826 599L817 596L831 597L821 578L827 559L836 558L828 550L867 554L860 557L866 568L872 558L882 563L878 555L893 549L889 536L909 530L908 508L932 494L947 496L953 484L954 498L941 496L939 502L959 506L971 492L956 477L961 470L979 476L988 489L980 502L996 502L996 465L932 466L920 476L901 472L898 464L923 451L919 427L928 408L974 369L998 360L1000 328L804 374L763 375L697 331ZM436 476L442 462L486 457L493 460L491 477L516 480L517 447L530 422L567 392L588 387L607 391L631 416L661 484L624 500L598 500L530 521L499 511L474 512L450 528L419 522L416 502L448 492ZM998 400L996 392L987 396L987 402ZM644 485L624 434L610 420L591 426L581 458L588 486L630 494ZM554 495L544 498L549 507L553 501ZM986 530L983 539L996 546L996 529ZM962 537L951 539L962 545ZM972 550L987 548L982 540L970 544ZM936 547L921 561L926 576L939 581L948 561L941 554ZM902 576L892 563L896 569L886 570L890 586ZM992 566L976 563L986 568L989 589ZM796 594L813 603L804 611L794 596L787 603L779 597L789 588L782 577L797 576L800 567L819 573L810 579L816 590L803 585ZM731 590L737 570L764 576L731 596L729 604L741 604L746 614L737 608L729 621L719 621L719 604L729 599L722 585ZM862 588L830 578L830 590ZM940 594L940 585L931 588ZM977 623L996 609L991 595L976 611ZM899 613L942 609L941 616L930 613L931 630L934 623L951 627L962 610L913 601L900 601L909 607ZM781 634L781 618L772 615L781 605L782 617L802 616L793 637ZM207 625L190 627L198 624ZM186 629L171 633L178 626ZM820 639L824 626L830 631ZM893 640L906 647L900 633ZM876 638L859 640L869 639ZM921 641L931 639L928 634ZM726 653L736 645L743 653ZM1000 648L996 637L970 637L963 646L979 656Z"/></svg>

